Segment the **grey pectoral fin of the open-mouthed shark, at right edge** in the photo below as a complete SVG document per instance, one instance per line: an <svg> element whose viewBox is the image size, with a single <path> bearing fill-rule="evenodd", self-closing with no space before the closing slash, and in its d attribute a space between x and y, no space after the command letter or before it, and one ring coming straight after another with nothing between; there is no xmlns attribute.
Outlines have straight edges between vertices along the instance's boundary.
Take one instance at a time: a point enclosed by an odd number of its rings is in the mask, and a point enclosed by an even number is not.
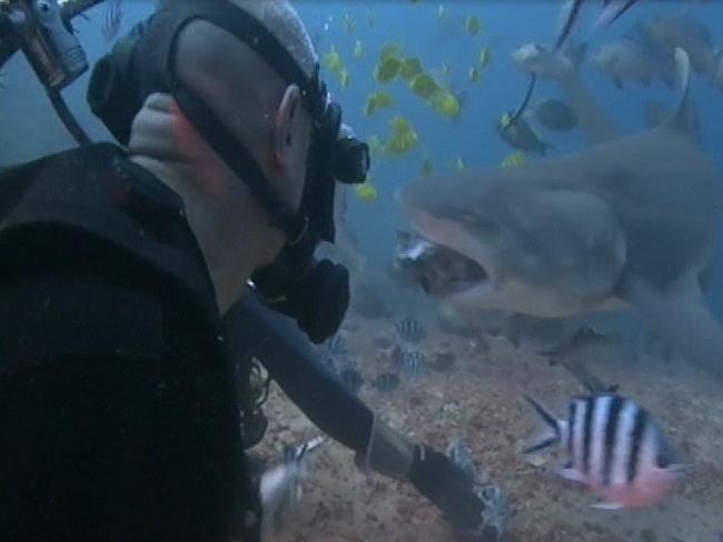
<svg viewBox="0 0 723 542"><path fill-rule="evenodd" d="M677 351L723 378L723 328L707 309L693 269L664 290L628 278L622 295Z"/></svg>

